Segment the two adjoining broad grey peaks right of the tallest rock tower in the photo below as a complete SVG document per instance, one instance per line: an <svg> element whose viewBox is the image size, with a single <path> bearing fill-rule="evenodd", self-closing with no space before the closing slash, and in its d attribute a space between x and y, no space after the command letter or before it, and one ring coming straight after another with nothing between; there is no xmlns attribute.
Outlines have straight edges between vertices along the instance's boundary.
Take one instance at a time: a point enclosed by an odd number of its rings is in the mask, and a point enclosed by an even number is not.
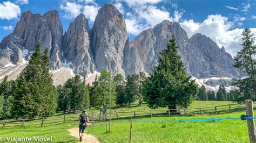
<svg viewBox="0 0 256 143"><path fill-rule="evenodd" d="M225 52L224 47L220 49L214 41L201 34L195 34L188 39L185 30L178 23L169 20L143 31L131 42L139 51L147 73L151 73L151 69L157 65L159 53L167 47L172 34L176 37L179 54L188 75L197 78L242 75L232 67L232 56Z"/></svg>

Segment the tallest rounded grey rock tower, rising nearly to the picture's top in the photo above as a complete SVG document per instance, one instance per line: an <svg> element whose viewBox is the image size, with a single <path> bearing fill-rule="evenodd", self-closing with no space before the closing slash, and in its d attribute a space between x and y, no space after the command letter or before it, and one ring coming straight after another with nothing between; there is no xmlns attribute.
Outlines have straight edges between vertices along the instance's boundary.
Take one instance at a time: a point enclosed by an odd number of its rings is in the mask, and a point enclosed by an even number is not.
<svg viewBox="0 0 256 143"><path fill-rule="evenodd" d="M123 50L128 39L125 20L116 7L106 3L98 11L91 31L92 54L98 71L108 69L122 73Z"/></svg>

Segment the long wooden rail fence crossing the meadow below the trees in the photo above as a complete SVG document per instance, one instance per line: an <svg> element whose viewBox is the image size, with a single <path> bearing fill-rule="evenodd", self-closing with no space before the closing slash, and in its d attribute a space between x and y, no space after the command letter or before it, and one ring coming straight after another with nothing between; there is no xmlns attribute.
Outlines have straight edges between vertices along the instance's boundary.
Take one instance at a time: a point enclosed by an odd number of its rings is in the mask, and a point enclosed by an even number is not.
<svg viewBox="0 0 256 143"><path fill-rule="evenodd" d="M142 117L159 117L159 116L194 116L194 115L214 115L245 111L245 104L228 104L220 106L208 106L201 108L187 108L187 109L175 109L175 110L144 110L144 111L127 111L127 112L111 112L112 119L125 119L125 118L142 118ZM77 115L77 114L76 114ZM23 126L44 126L44 125L56 125L69 122L75 122L78 119L78 115L59 115L45 118L34 119L19 119L19 120L0 120L2 128L5 127L23 127ZM103 121L109 119L109 112L105 114L101 112L88 113L87 116L91 121Z"/></svg>

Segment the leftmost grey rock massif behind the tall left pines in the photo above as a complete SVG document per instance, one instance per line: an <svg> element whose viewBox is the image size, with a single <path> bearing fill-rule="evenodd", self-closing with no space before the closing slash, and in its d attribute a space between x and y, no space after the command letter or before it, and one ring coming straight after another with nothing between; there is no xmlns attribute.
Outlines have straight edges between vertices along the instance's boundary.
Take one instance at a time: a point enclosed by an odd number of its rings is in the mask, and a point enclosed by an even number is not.
<svg viewBox="0 0 256 143"><path fill-rule="evenodd" d="M28 60L37 42L40 42L42 53L46 47L49 48L51 68L60 68L61 41L62 24L57 11L49 11L43 16L26 11L22 14L14 32L2 41L0 67L9 62L17 64L23 59Z"/></svg>

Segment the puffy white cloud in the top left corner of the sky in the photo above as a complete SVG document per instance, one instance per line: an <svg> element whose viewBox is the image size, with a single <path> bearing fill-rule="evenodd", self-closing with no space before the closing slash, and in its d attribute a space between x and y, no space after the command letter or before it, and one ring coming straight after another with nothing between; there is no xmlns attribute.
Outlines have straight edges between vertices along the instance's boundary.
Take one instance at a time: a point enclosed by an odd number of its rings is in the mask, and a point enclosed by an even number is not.
<svg viewBox="0 0 256 143"><path fill-rule="evenodd" d="M11 2L0 3L0 19L13 19L18 18L21 14L21 8L18 5Z"/></svg>

